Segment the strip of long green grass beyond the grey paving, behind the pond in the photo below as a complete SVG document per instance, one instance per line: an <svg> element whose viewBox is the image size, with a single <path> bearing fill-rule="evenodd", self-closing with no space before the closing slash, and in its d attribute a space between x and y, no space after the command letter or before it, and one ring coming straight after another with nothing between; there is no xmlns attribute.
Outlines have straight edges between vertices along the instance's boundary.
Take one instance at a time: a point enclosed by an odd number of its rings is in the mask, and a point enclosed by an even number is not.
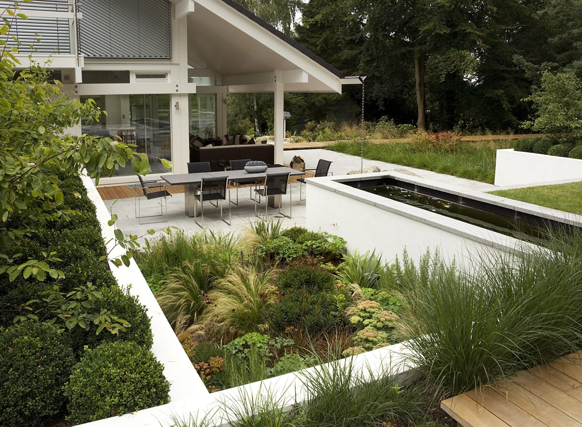
<svg viewBox="0 0 582 427"><path fill-rule="evenodd" d="M498 148L511 148L513 141L463 141L455 150L418 151L410 143L364 143L364 158L427 169L460 178L493 183ZM327 150L360 156L360 143L340 141Z"/></svg>

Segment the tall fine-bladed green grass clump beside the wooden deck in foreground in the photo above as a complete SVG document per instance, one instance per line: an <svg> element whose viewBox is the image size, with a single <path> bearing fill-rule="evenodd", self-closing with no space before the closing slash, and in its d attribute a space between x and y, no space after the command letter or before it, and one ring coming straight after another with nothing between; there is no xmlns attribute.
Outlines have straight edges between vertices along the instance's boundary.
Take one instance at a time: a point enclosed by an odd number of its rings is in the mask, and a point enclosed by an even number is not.
<svg viewBox="0 0 582 427"><path fill-rule="evenodd" d="M551 236L547 249L491 252L467 265L471 272L437 256L407 269L401 329L441 397L582 348L582 237Z"/></svg>

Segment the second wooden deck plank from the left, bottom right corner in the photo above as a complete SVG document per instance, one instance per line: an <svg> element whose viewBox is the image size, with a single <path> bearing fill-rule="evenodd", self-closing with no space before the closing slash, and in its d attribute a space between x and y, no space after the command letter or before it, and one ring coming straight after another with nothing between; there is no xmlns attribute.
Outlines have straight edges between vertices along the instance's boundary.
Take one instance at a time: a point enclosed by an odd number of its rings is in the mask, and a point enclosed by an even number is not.
<svg viewBox="0 0 582 427"><path fill-rule="evenodd" d="M491 386L471 390L465 394L512 427L547 427L544 422L495 392Z"/></svg>

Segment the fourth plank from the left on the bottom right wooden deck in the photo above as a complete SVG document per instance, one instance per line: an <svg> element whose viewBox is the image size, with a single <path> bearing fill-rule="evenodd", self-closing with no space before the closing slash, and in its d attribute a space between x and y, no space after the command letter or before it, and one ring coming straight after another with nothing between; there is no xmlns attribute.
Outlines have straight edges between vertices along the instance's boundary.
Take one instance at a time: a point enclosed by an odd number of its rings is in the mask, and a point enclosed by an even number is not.
<svg viewBox="0 0 582 427"><path fill-rule="evenodd" d="M562 392L562 390L557 389L528 371L518 373L513 379L517 379L524 389L542 398L549 405L555 407L556 410L562 411L576 420L582 420L582 405L580 401L569 394Z"/></svg>

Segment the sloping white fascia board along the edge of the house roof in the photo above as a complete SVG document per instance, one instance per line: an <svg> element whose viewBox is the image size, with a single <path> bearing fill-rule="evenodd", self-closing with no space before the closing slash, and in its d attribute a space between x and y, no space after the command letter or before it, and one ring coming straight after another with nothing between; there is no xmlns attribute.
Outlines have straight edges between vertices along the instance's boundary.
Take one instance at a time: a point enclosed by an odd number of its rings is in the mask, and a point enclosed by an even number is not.
<svg viewBox="0 0 582 427"><path fill-rule="evenodd" d="M197 0L197 3L203 8L221 17L229 24L244 31L249 37L254 38L266 48L277 52L287 61L292 62L301 70L304 70L321 83L328 86L332 91L342 93L342 83L339 77L329 72L325 67L319 65L313 59L308 58L296 48L289 45L286 41L281 40L275 34L265 30L259 24L253 22L242 13L233 9L222 0Z"/></svg>

